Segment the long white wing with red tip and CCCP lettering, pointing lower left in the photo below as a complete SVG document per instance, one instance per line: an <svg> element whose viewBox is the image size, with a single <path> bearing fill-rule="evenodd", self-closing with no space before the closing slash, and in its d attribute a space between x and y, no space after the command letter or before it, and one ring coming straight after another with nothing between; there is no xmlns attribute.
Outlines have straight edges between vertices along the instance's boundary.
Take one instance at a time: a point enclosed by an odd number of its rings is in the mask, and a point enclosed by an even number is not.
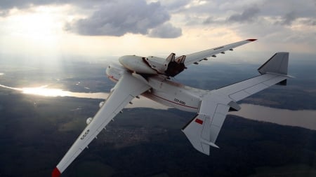
<svg viewBox="0 0 316 177"><path fill-rule="evenodd" d="M126 106L126 104L129 104L134 97L142 94L148 89L150 89L150 86L143 80L132 76L131 73L124 73L117 85L114 86L114 91L109 95L105 104L103 104L90 124L86 126L70 150L68 150L66 155L62 157L62 160L53 170L52 177L60 176L60 173L65 171L84 148L88 147L88 144L96 138L103 128L105 128L105 126Z"/></svg>

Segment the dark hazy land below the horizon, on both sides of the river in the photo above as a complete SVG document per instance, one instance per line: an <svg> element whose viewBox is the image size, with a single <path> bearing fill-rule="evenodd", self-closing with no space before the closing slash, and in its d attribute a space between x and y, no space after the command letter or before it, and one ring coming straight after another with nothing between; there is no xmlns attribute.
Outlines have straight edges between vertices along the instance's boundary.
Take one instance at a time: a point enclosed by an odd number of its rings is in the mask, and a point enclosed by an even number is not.
<svg viewBox="0 0 316 177"><path fill-rule="evenodd" d="M286 87L273 86L240 103L315 110L315 65L291 61L289 74L296 78ZM172 79L212 90L256 76L258 66L213 62ZM0 84L109 92L114 83L105 77L105 68L104 62L67 61L42 68L2 60ZM100 101L0 87L0 176L50 176ZM62 176L316 176L315 130L228 115L216 141L220 148L211 148L207 156L181 132L194 116L173 108L125 108Z"/></svg>

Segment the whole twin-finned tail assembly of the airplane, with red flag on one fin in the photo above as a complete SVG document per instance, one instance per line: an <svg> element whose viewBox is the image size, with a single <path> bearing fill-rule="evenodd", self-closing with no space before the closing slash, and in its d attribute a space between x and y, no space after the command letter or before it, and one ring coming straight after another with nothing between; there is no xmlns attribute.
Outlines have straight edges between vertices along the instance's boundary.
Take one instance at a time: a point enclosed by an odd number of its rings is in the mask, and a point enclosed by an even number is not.
<svg viewBox="0 0 316 177"><path fill-rule="evenodd" d="M200 152L209 155L210 146L218 148L215 141L230 108L238 111L236 101L249 97L272 85L285 85L287 78L288 52L278 52L259 69L261 76L233 85L212 90L202 97L199 111L182 131Z"/></svg>

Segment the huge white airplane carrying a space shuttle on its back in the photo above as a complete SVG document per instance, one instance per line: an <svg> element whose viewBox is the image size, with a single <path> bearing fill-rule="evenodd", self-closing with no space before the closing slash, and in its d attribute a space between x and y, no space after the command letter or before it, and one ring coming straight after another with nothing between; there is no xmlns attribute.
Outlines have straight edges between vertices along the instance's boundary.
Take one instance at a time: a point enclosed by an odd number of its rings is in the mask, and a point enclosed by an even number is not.
<svg viewBox="0 0 316 177"><path fill-rule="evenodd" d="M127 104L131 104L134 98L139 98L139 95L168 107L197 113L183 127L182 132L196 150L209 155L210 146L218 148L215 142L228 111L240 110L237 101L275 84L287 85L287 78L291 78L287 75L289 52L275 53L258 68L259 76L216 90L199 90L176 83L171 78L187 69L190 64L198 64L252 41L256 39L179 57L171 53L166 59L136 55L119 57L119 64L110 64L106 69L107 78L117 84L110 90L107 99L100 102L100 110L94 118L86 120L86 128L57 164L52 177L60 176L115 115Z"/></svg>

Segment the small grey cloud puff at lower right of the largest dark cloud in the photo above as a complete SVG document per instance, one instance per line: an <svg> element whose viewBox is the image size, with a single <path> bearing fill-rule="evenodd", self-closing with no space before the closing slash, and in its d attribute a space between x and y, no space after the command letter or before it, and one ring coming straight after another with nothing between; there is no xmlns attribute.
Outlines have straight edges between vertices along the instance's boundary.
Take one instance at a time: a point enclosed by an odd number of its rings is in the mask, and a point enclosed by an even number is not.
<svg viewBox="0 0 316 177"><path fill-rule="evenodd" d="M166 23L159 27L152 29L149 36L154 38L177 38L182 35L182 30L177 27L173 27L172 24Z"/></svg>

